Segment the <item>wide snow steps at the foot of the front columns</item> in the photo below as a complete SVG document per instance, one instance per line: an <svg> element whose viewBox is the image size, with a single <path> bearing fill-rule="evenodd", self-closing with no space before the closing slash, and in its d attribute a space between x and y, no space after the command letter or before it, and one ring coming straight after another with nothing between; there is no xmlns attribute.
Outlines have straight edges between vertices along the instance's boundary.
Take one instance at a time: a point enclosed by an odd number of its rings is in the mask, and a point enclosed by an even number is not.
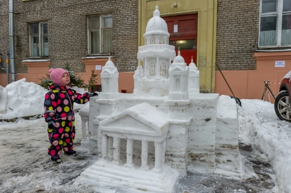
<svg viewBox="0 0 291 193"><path fill-rule="evenodd" d="M134 188L134 192L170 193L179 173L167 165L163 165L160 172L145 172L139 168L112 164L108 159L99 159L80 176L108 186L120 186L121 189Z"/></svg>

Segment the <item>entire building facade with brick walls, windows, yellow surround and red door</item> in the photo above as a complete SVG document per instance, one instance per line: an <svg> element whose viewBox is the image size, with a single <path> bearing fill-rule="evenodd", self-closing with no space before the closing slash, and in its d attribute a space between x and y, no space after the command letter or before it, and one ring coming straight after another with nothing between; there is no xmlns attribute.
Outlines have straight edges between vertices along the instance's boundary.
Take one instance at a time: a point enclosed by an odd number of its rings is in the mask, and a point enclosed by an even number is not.
<svg viewBox="0 0 291 193"><path fill-rule="evenodd" d="M0 51L5 59L8 2L0 2ZM101 73L104 57L111 53L120 73L119 92L132 93L136 51L146 44L143 34L156 3L15 1L17 78L37 83L50 67L63 67L68 61L87 80L91 69ZM232 95L216 64L235 95L249 99L261 98L264 80L279 83L291 70L291 0L160 0L158 4L169 44L176 51L180 48L188 65L193 57L203 93ZM31 61L35 59L45 60ZM0 72L0 83L5 85L5 70ZM277 94L279 84L271 84L271 89Z"/></svg>

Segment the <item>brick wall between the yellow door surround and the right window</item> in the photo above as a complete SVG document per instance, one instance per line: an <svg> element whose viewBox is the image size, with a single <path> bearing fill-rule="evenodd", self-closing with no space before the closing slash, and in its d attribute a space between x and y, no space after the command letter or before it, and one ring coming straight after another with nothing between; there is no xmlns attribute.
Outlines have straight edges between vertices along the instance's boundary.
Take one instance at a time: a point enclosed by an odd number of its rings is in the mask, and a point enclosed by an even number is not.
<svg viewBox="0 0 291 193"><path fill-rule="evenodd" d="M255 70L259 0L218 0L216 63L221 70ZM279 50L286 48L264 48Z"/></svg>

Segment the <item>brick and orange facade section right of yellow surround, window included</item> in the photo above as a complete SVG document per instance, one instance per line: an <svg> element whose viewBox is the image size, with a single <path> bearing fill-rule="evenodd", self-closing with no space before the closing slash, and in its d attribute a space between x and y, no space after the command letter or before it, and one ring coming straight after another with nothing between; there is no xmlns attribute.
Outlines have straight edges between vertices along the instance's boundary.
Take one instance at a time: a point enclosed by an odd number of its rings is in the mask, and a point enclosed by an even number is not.
<svg viewBox="0 0 291 193"><path fill-rule="evenodd" d="M291 70L291 0L218 0L216 44L236 96L260 99L264 80L276 95ZM215 92L232 95L217 69L215 76Z"/></svg>

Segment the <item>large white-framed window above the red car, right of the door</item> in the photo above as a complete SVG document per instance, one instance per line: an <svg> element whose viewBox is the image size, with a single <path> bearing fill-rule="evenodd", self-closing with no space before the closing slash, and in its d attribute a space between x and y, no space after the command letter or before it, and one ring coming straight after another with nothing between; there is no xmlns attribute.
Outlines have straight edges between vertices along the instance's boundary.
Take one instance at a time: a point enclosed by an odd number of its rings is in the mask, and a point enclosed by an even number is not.
<svg viewBox="0 0 291 193"><path fill-rule="evenodd" d="M260 0L259 47L291 46L291 0Z"/></svg>

